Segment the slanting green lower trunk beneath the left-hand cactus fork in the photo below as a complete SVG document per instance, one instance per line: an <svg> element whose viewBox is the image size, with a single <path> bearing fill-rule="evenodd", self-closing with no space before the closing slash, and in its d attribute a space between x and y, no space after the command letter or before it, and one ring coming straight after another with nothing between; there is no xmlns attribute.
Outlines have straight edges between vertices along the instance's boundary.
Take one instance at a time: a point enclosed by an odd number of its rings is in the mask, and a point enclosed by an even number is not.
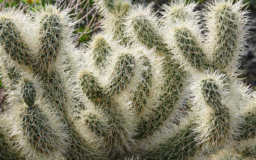
<svg viewBox="0 0 256 160"><path fill-rule="evenodd" d="M69 158L77 158L78 160L83 159L83 157L91 157L92 159L101 157L100 152L97 153L96 149L93 149L85 139L80 136L80 133L76 130L74 122L71 121L71 117L68 113L67 106L67 91L65 91L65 86L63 80L59 76L58 71L51 71L49 75L42 76L45 86L43 89L46 91L45 97L49 98L54 103L54 108L61 117L63 117L64 124L67 124L67 130L70 133L71 143ZM58 93L58 94L55 94Z"/></svg>

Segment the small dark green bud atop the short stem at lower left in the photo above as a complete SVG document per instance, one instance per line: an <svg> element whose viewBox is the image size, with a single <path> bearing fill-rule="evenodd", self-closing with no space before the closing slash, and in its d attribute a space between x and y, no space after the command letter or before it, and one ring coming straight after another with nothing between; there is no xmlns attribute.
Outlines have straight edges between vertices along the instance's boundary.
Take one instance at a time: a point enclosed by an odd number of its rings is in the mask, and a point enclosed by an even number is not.
<svg viewBox="0 0 256 160"><path fill-rule="evenodd" d="M22 98L28 106L34 105L36 100L35 85L28 79L24 79L24 83L22 85Z"/></svg>

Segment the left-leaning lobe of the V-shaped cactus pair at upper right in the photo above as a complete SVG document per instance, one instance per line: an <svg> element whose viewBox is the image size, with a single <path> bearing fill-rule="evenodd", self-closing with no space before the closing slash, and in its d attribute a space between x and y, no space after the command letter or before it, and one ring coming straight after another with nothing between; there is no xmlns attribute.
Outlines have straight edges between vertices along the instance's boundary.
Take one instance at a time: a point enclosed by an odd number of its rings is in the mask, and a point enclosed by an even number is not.
<svg viewBox="0 0 256 160"><path fill-rule="evenodd" d="M171 35L173 35L171 42L174 43L175 53L177 53L176 58L180 58L181 65L186 65L189 70L196 69L202 72L211 69L211 65L204 51L200 25L197 25L197 23L194 19L176 20L171 25Z"/></svg>

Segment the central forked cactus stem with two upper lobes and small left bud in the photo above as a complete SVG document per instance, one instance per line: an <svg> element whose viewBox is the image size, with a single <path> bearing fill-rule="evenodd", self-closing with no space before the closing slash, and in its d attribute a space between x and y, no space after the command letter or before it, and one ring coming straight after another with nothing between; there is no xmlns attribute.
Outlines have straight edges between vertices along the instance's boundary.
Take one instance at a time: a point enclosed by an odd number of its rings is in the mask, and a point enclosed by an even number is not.
<svg viewBox="0 0 256 160"><path fill-rule="evenodd" d="M106 45L108 45L104 44L101 45L102 48L106 48ZM102 51L102 49L98 49L98 51ZM124 52L109 58L111 60L107 61L112 62L112 65L108 67L109 69L106 69L111 72L107 74L109 81L106 82L105 86L93 75L94 73L87 70L80 73L80 84L87 98L95 104L95 109L98 109L106 117L103 120L96 114L89 113L85 116L85 123L95 135L100 133L100 136L104 138L103 147L106 147L108 156L117 157L123 155L125 151L131 150L130 147L134 144L132 140L134 135L132 113L115 100L115 96L122 93L132 80L134 56ZM92 123L96 123L98 126L92 127Z"/></svg>

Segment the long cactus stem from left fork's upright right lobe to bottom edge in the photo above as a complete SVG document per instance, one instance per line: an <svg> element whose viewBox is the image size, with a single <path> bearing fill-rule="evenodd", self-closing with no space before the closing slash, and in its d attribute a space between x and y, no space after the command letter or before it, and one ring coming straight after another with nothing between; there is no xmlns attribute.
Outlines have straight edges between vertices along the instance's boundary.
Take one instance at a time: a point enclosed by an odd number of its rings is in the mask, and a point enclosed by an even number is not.
<svg viewBox="0 0 256 160"><path fill-rule="evenodd" d="M37 59L39 66L33 69L39 70L38 73L43 82L42 88L45 90L43 96L52 102L52 109L61 117L63 124L67 125L66 130L69 133L72 144L67 151L67 159L103 158L104 156L97 147L90 145L77 131L74 122L72 122L72 116L69 113L70 107L75 107L76 104L72 103L72 98L74 97L71 96L70 98L72 93L70 93L69 87L66 84L69 75L61 73L54 63L57 56L65 54L61 48L72 48L65 45L70 40L70 34L72 33L72 29L70 29L72 25L67 16L67 10L60 11L56 6L47 5L45 10L42 7L40 11L41 13L35 13L38 25L40 26L39 30L41 29L41 36L39 37L41 47L39 50L52 57ZM40 55L42 54L39 52L38 56ZM45 68L45 66L48 66L48 68Z"/></svg>

